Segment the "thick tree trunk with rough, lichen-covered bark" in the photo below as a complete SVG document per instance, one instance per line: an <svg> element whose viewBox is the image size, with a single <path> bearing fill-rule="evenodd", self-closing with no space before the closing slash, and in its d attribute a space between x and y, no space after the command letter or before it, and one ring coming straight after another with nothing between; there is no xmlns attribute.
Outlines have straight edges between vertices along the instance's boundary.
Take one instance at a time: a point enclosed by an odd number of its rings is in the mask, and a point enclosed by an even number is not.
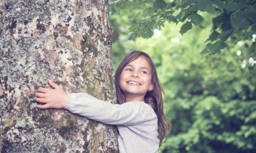
<svg viewBox="0 0 256 153"><path fill-rule="evenodd" d="M51 79L114 103L107 0L0 0L1 152L117 152L117 131L65 110L38 110Z"/></svg>

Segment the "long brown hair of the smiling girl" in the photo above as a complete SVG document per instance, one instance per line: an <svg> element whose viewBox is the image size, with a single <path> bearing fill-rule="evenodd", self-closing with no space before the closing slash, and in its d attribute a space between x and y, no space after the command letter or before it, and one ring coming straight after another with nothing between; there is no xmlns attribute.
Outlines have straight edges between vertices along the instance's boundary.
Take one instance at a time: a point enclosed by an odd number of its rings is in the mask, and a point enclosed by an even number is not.
<svg viewBox="0 0 256 153"><path fill-rule="evenodd" d="M154 65L154 62L144 52L140 52L137 50L134 50L130 54L126 55L124 59L121 61L120 65L118 66L116 73L115 73L115 87L116 87L116 97L117 97L117 103L123 104L125 103L125 95L122 92L119 81L120 81L120 75L122 72L122 69L124 66L126 66L128 63L136 60L140 56L143 56L146 58L147 62L151 65L152 69L152 83L154 86L154 90L148 91L146 95L144 96L144 101L146 104L150 105L155 113L157 114L157 124L158 124L158 139L160 140L160 145L162 143L162 140L166 138L166 136L170 133L172 130L172 124L168 120L168 118L163 113L163 96L165 97L165 93L159 83L158 77L157 77L157 71Z"/></svg>

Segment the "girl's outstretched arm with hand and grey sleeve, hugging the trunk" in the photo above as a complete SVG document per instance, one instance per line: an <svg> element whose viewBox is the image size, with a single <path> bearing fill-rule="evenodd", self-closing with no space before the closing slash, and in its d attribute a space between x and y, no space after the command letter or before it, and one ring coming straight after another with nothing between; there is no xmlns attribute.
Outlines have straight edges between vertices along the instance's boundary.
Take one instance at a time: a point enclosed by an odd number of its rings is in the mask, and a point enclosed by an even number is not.
<svg viewBox="0 0 256 153"><path fill-rule="evenodd" d="M141 101L122 105L106 103L86 93L67 94L55 83L49 81L54 89L40 88L35 93L39 109L65 108L72 113L106 124L134 125L157 118L154 110ZM40 94L39 94L40 93Z"/></svg>

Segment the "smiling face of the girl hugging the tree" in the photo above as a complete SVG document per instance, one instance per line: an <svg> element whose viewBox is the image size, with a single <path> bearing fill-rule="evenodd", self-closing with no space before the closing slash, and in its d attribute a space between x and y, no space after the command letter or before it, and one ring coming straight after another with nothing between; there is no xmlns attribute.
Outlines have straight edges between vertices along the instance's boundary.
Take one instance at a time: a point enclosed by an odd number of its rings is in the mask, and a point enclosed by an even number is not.
<svg viewBox="0 0 256 153"><path fill-rule="evenodd" d="M121 71L119 86L126 99L143 100L153 90L151 66L144 56L128 63Z"/></svg>

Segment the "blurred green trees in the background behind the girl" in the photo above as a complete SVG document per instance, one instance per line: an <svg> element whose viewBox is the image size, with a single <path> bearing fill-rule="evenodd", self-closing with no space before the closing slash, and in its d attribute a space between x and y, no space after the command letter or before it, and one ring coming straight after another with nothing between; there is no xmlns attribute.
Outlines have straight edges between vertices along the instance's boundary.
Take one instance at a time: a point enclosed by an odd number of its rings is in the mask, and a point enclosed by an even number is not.
<svg viewBox="0 0 256 153"><path fill-rule="evenodd" d="M176 2L176 6L172 2ZM129 38L136 30L144 32L134 25L147 18L148 10L153 9L148 16L156 12L169 13L156 3L160 4L155 0L112 1L110 19L115 70L131 50L144 51L155 62L166 93L164 111L173 124L159 152L256 152L255 29L242 27L230 35L223 40L225 47L221 53L201 53L213 32L212 19L225 13L225 9L218 10L211 4L215 11L212 8L211 11L196 10L202 21L198 25L192 22L193 27L183 35L181 27L186 21L191 22L191 18L177 22L162 19L160 25L150 27L146 35ZM164 3L169 4L169 8L176 7L171 12L176 17L182 7L186 7L183 3L177 9L177 1ZM255 3L250 1L253 7ZM229 11L236 12L236 8ZM252 11L255 12L255 8ZM224 30L220 29L219 34Z"/></svg>

